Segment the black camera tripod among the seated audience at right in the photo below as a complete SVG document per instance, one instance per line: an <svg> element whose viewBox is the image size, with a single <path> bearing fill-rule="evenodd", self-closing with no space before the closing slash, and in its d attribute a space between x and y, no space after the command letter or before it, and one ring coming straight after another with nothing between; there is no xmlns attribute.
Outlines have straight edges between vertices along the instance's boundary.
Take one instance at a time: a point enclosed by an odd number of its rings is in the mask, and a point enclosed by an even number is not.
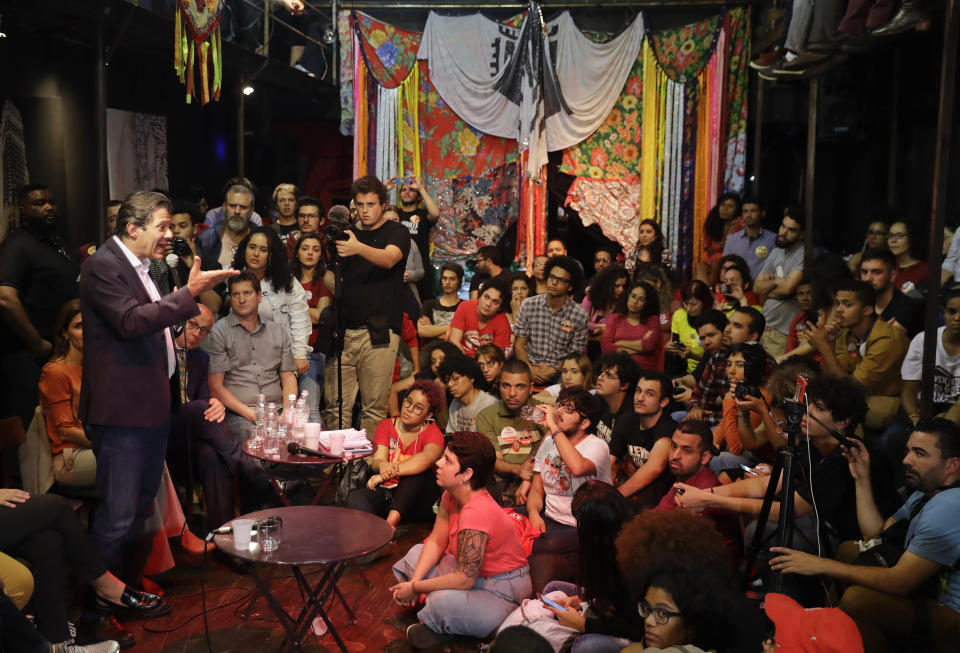
<svg viewBox="0 0 960 653"><path fill-rule="evenodd" d="M800 422L804 414L803 404L796 401L785 402L784 413L787 418L787 424L784 431L787 434L787 444L777 449L777 459L773 464L773 471L770 472L770 480L767 483L767 491L763 497L763 506L760 508L760 514L757 517L756 530L753 533L753 540L747 546L745 561L746 566L743 571L742 586L746 587L751 573L754 571L757 562L757 555L763 548L764 533L767 527L767 521L770 518L770 508L774 501L780 502L780 515L777 522L777 546L791 546L793 543L793 490L795 477L794 461L797 459L797 436L800 434ZM782 479L782 483L780 482ZM780 485L779 498L777 497L777 485ZM783 590L783 575L772 574L770 579L770 591L781 592Z"/></svg>

